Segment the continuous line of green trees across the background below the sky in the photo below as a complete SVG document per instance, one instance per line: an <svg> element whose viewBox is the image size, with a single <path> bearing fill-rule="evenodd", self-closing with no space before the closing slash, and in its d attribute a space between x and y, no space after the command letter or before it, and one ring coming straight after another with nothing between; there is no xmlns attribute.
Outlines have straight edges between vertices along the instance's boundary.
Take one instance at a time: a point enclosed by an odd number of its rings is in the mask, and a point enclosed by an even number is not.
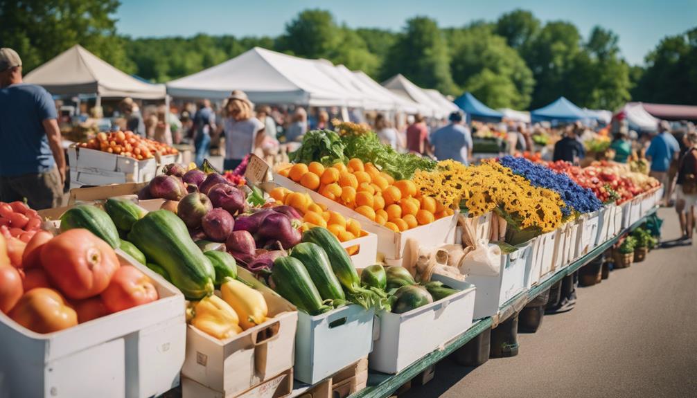
<svg viewBox="0 0 697 398"><path fill-rule="evenodd" d="M0 44L26 72L79 43L124 72L165 82L259 46L325 58L377 81L404 74L424 88L485 104L535 109L564 95L579 106L618 109L629 100L697 104L697 28L661 40L645 65L629 65L618 35L596 26L587 38L570 22L543 23L514 10L495 21L443 28L413 17L400 31L351 29L329 11L303 10L277 37L194 35L130 38L112 17L118 0L0 1Z"/></svg>

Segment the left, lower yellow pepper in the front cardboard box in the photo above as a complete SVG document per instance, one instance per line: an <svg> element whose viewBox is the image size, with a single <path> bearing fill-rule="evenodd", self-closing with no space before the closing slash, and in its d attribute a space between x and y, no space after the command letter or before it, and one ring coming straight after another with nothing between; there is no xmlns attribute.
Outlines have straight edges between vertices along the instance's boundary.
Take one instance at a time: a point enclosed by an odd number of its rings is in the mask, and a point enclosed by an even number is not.
<svg viewBox="0 0 697 398"><path fill-rule="evenodd" d="M242 332L237 312L222 298L212 295L191 304L190 323L204 333L225 340Z"/></svg>

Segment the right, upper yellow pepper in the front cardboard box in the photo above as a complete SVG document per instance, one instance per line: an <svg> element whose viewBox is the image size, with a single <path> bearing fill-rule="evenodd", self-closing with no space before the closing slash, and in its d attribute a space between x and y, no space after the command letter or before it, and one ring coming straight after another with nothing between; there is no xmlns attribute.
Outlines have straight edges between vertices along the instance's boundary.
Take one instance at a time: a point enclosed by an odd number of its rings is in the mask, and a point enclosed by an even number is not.
<svg viewBox="0 0 697 398"><path fill-rule="evenodd" d="M220 286L220 292L222 299L240 315L243 331L266 321L268 306L259 290L252 289L239 280L226 278Z"/></svg>

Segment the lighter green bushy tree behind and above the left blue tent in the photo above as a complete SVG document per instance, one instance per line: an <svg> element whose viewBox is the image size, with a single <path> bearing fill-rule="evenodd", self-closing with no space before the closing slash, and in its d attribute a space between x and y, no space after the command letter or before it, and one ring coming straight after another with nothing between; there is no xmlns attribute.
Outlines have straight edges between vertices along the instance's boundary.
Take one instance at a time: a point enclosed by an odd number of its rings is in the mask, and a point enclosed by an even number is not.
<svg viewBox="0 0 697 398"><path fill-rule="evenodd" d="M535 86L533 72L503 37L484 25L452 29L447 36L457 85L489 106L526 109Z"/></svg>

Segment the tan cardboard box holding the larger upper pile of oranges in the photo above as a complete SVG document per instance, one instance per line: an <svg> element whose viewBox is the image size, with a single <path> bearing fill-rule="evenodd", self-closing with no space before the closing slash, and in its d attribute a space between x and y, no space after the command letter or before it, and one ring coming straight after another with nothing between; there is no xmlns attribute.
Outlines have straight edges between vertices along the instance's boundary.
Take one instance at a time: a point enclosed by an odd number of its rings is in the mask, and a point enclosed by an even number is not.
<svg viewBox="0 0 697 398"><path fill-rule="evenodd" d="M457 214L450 217L444 217L433 223L421 225L411 230L404 232L394 232L371 221L369 218L354 212L352 209L340 205L339 203L321 196L319 193L305 188L300 184L296 184L282 175L274 174L274 182L280 186L284 186L291 191L308 193L309 196L317 203L321 203L328 209L338 212L343 216L355 218L360 222L364 230L376 234L378 237L378 253L381 253L385 258L385 262L390 265L401 264L402 253L406 248L406 239L417 239L422 246L438 246L444 244L450 235L451 239L454 236L452 230L457 225Z"/></svg>

